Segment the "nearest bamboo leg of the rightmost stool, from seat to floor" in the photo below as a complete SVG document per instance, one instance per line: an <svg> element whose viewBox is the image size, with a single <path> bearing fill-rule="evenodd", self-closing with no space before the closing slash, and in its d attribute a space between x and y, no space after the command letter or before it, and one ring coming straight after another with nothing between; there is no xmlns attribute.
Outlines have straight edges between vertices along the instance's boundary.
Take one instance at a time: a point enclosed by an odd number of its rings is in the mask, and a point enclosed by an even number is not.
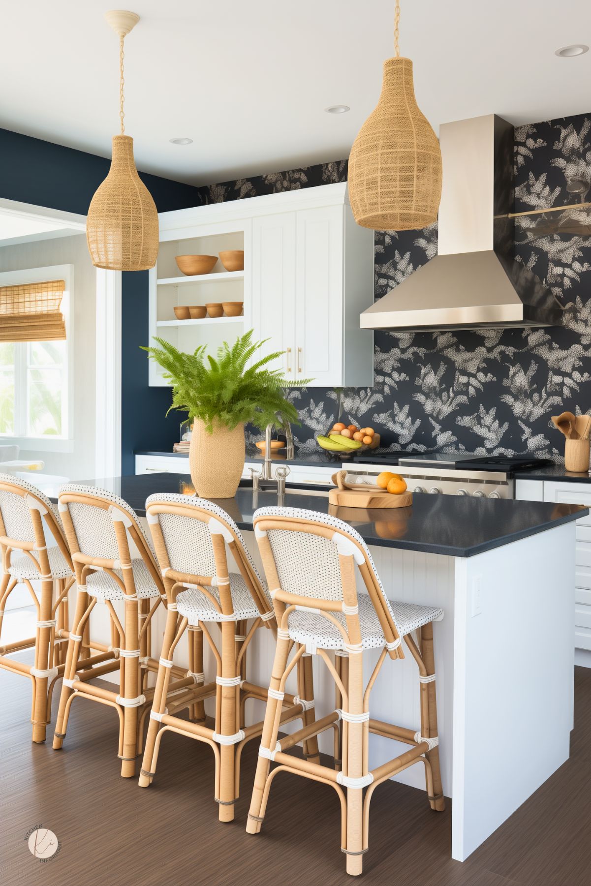
<svg viewBox="0 0 591 886"><path fill-rule="evenodd" d="M363 711L363 656L348 659L349 713ZM363 772L363 724L346 723L346 775L361 778ZM345 761L343 761L345 769ZM346 873L358 875L363 870L363 789L346 789Z"/></svg>

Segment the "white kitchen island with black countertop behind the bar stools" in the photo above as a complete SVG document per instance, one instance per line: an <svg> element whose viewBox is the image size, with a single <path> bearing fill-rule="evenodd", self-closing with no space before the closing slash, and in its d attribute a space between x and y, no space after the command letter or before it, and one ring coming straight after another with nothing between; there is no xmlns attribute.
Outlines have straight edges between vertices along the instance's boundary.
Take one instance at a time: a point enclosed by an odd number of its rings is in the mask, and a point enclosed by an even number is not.
<svg viewBox="0 0 591 886"><path fill-rule="evenodd" d="M170 473L87 482L120 495L140 516L149 494L193 493L189 477ZM253 511L276 504L276 494L241 486L235 498L216 503L260 563ZM453 797L451 854L466 859L569 757L575 520L588 509L420 494L405 509L343 509L330 506L320 490L289 487L282 503L346 520L369 545L389 597L445 611L435 626L439 754L444 791ZM105 614L97 610L97 618ZM158 613L154 637L161 635L163 616ZM250 680L268 681L273 652L270 633L258 632L249 650ZM178 649L175 661L187 664L185 656ZM367 654L367 676L376 657ZM212 666L206 659L206 672ZM323 663L315 661L319 716L332 710L333 691ZM417 728L412 657L383 668L371 698L372 716ZM257 704L249 711L253 720L261 717ZM328 745L321 750L331 752ZM372 734L369 766L392 756L391 742ZM397 778L424 789L419 767Z"/></svg>

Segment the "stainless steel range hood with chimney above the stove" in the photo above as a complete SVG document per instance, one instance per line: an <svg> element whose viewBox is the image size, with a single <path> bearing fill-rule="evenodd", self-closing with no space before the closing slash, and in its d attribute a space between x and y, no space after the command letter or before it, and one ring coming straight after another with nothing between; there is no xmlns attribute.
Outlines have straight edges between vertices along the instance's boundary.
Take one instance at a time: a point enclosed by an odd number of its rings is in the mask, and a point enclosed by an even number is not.
<svg viewBox="0 0 591 886"><path fill-rule="evenodd" d="M564 307L513 258L513 127L496 114L441 126L439 251L361 315L362 329L560 326Z"/></svg>

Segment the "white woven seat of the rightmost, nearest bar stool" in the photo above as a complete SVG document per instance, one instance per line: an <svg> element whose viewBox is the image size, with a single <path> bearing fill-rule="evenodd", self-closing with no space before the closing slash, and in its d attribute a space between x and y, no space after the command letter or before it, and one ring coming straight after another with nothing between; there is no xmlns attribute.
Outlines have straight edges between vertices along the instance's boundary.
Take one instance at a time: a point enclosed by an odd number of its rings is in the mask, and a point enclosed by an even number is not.
<svg viewBox="0 0 591 886"><path fill-rule="evenodd" d="M359 620L362 628L362 648L381 649L385 645L385 636L377 618L376 610L367 594L359 594ZM443 610L435 606L417 606L415 603L389 601L392 607L400 636L415 631L417 627L427 625L430 621L440 618ZM345 615L333 612L335 618L346 626ZM319 649L343 649L343 635L329 618L315 612L295 610L288 618L290 639L304 645L313 645Z"/></svg>

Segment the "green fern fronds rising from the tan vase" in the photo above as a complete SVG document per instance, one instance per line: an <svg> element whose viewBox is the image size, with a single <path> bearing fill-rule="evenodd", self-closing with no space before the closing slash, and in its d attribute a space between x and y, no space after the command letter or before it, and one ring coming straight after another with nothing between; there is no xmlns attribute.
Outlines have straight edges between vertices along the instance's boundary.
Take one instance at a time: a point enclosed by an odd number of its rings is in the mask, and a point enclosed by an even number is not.
<svg viewBox="0 0 591 886"><path fill-rule="evenodd" d="M268 340L268 339L266 339ZM249 361L265 344L253 341L253 330L237 338L233 346L224 342L214 357L202 345L193 354L184 354L164 338L154 338L159 347L142 347L164 369L164 377L173 385L170 409L186 409L191 419L198 419L213 433L214 423L229 431L237 424L250 422L261 431L268 424L288 421L299 424L298 412L284 393L280 369L268 369L268 363L283 352ZM301 379L300 385L311 379Z"/></svg>

